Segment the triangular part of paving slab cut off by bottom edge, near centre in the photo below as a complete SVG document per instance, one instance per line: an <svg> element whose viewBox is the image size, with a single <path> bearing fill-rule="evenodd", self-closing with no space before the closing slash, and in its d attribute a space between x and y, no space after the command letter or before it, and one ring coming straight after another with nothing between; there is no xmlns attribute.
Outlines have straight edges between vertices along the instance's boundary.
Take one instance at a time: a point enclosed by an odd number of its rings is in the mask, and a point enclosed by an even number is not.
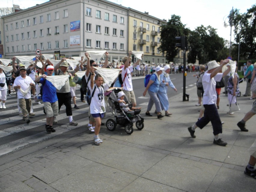
<svg viewBox="0 0 256 192"><path fill-rule="evenodd" d="M174 187L170 187L161 183L157 183L155 181L151 181L145 178L137 178L135 181L133 181L131 184L129 184L127 187L125 187L120 192L148 192L148 191L154 191L154 192L182 192L184 190L179 190Z"/></svg>

